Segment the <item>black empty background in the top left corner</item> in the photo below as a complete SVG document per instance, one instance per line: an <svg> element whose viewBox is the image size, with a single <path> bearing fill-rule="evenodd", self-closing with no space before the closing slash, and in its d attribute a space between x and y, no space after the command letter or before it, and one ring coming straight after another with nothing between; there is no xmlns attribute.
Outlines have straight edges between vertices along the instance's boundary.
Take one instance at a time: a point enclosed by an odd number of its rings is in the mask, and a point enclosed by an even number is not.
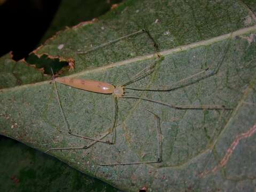
<svg viewBox="0 0 256 192"><path fill-rule="evenodd" d="M50 27L60 0L7 0L0 6L1 52L13 51L13 59L19 60L35 49Z"/></svg>

